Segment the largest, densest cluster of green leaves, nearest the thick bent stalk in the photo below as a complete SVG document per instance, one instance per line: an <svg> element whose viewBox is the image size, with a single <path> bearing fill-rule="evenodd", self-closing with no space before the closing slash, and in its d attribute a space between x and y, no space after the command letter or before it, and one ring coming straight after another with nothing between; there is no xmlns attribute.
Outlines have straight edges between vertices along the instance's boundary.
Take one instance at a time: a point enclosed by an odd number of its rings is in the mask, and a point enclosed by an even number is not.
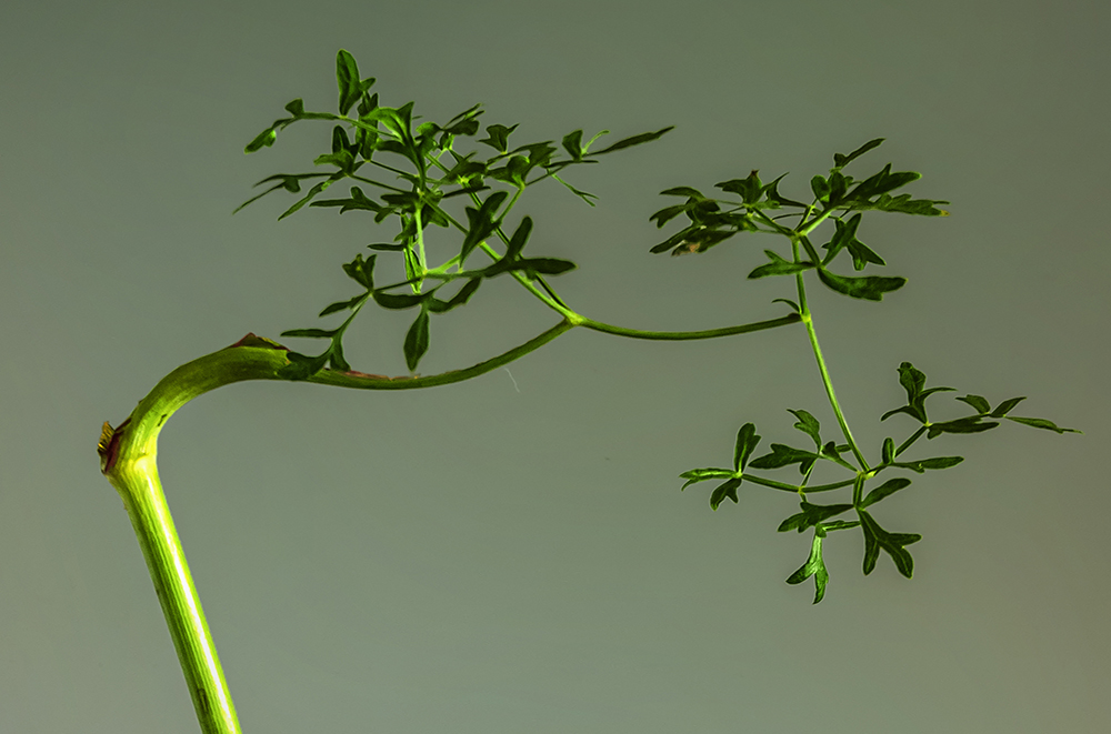
<svg viewBox="0 0 1111 734"><path fill-rule="evenodd" d="M273 145L278 132L294 122L331 120L341 123L332 129L331 151L318 155L313 163L333 170L330 173L278 173L267 177L254 185L264 183L273 185L243 202L236 212L268 193L282 189L302 195L278 217L279 220L300 211L306 205L337 208L341 214L349 211L371 212L376 223L397 217L400 227L393 241L370 244L368 248L379 252L399 253L404 262L406 280L376 288L372 271L377 255L371 255L366 261L360 255L344 264L343 270L364 289L363 292L330 304L320 315L351 310L353 318L368 299L390 310L418 308L419 312L404 340L406 363L410 370L417 369L428 351L429 314L446 313L463 305L478 290L482 279L511 273L519 280L539 282L548 291L549 296L559 302L558 296L544 283L543 276L565 273L573 270L575 264L558 258L523 254L522 251L532 232L531 218L524 217L511 237L504 229L507 215L526 188L543 179L553 178L592 207L593 202L590 199L597 197L568 184L560 179L560 171L570 165L597 163L598 155L651 142L672 129L668 127L632 135L597 151L591 151L591 145L598 138L607 134L608 130L599 132L585 143L582 142L582 130L574 130L563 135L561 141L565 157L557 157L559 149L552 144L553 141L532 142L511 148L509 138L518 125L490 124L486 127L486 137L476 140L480 145L492 150L491 154L481 158L477 150L468 153L456 150L460 139L478 137L480 130L478 118L483 113L481 104L464 110L444 124L423 122L413 129L414 120L420 119L412 113L413 102L399 108L381 105L378 94L370 93L376 80L362 79L354 58L342 49L336 58L336 81L339 91L338 113L307 111L303 100L296 99L286 105L289 117L274 120L244 149L244 152L252 153ZM349 117L352 107L357 107L357 117ZM407 168L384 163L383 158L387 155L400 157ZM393 173L394 179L400 180L400 184L368 178L363 174L364 170L369 170L367 167ZM332 184L343 179L374 187L380 193L376 198L368 194L363 187L356 184L350 187L347 197L318 199ZM316 183L302 192L302 184L312 181ZM516 190L516 193L510 199L508 191L494 190L492 184L508 187L510 191ZM466 207L466 222L452 217L444 209L446 201L454 197L468 197L474 204ZM437 268L429 268L426 261L424 232L430 225L454 228L462 235L458 254ZM487 243L494 238L500 239L506 245L506 251L501 255ZM479 248L484 249L494 262L486 268L464 270L468 257ZM440 282L424 291L422 285L430 279ZM466 282L452 298L447 300L437 298L436 292L453 280ZM390 292L404 286L411 289L410 294ZM283 336L331 340L328 350L317 356L296 353L291 355L293 364L283 376L293 380L306 379L326 366L333 370L350 370L343 359L341 343L350 321L349 318L343 324L331 330L294 329L282 332Z"/></svg>

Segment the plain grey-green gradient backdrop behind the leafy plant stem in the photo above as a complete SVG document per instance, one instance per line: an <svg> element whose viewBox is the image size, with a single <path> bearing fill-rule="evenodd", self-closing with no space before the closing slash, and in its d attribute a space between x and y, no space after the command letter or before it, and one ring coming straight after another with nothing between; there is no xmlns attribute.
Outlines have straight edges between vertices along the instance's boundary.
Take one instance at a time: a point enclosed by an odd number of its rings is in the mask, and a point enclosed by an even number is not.
<svg viewBox="0 0 1111 734"><path fill-rule="evenodd" d="M630 328L774 318L771 299L793 298L788 279L744 278L784 251L772 238L649 254L677 231L648 220L675 201L659 191L757 168L790 171L781 191L802 197L834 151L888 138L858 175L921 171L909 191L952 217L865 217L875 272L910 280L882 303L811 279L869 458L915 425L878 422L904 401L904 360L957 388L934 420L965 414L955 395L1030 395L1014 414L1085 435L1004 422L921 441L909 458L967 461L909 474L877 509L924 535L914 580L885 555L863 577L860 535L838 534L812 606L811 582L784 583L810 545L775 532L790 495L748 485L712 513L712 483L677 479L728 464L747 421L761 453L804 445L788 408L835 435L801 326L687 343L580 330L426 391L221 390L171 421L160 463L247 732L1111 731L1109 31L1094 0L8 0L0 731L197 731L96 442L174 366L332 323L317 312L356 293L340 264L392 239L362 213L277 222L286 193L230 215L329 149L331 123L306 122L242 152L296 97L334 109L339 48L383 104L447 122L483 102L483 124L521 123L516 144L677 125L568 172L597 208L552 181L514 210L536 220L531 253L579 263L558 292ZM439 262L458 238L430 248ZM369 306L354 368L406 374L413 315ZM557 321L488 282L433 319L419 372Z"/></svg>

